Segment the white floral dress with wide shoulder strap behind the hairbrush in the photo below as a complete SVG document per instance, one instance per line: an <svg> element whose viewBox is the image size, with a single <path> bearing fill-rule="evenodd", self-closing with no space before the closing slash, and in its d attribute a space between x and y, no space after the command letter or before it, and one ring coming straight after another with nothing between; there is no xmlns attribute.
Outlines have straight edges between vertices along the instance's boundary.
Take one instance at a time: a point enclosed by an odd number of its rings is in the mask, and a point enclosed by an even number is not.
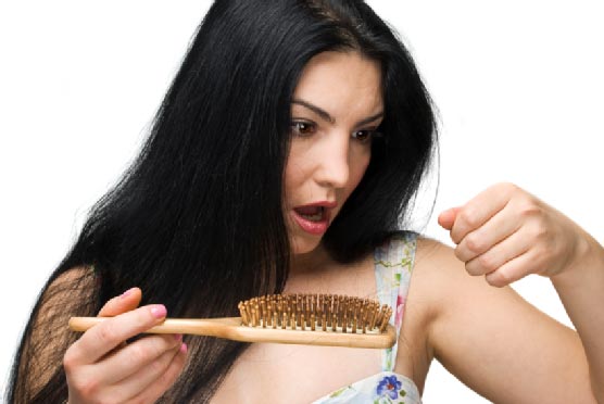
<svg viewBox="0 0 604 404"><path fill-rule="evenodd" d="M381 304L395 307L390 324L401 331L405 300L415 258L416 235L401 232L374 253L378 299ZM398 338L397 338L398 341ZM398 343L382 351L379 374L343 387L313 404L421 404L417 387L410 378L395 374Z"/></svg>

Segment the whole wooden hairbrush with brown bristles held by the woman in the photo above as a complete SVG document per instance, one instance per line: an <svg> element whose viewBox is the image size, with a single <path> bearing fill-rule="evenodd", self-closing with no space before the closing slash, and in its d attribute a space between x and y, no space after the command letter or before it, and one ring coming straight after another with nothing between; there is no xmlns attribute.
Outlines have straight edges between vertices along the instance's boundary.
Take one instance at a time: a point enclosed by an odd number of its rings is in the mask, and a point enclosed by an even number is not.
<svg viewBox="0 0 604 404"><path fill-rule="evenodd" d="M166 318L146 333L188 333L243 342L390 348L397 331L392 308L369 299L337 294L269 294L240 302L241 317ZM109 317L72 317L86 331Z"/></svg>

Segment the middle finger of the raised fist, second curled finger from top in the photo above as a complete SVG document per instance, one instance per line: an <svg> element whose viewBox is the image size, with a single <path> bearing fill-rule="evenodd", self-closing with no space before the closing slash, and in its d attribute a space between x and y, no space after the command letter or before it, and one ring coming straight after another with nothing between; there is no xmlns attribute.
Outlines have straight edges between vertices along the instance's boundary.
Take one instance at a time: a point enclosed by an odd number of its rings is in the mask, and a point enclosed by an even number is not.
<svg viewBox="0 0 604 404"><path fill-rule="evenodd" d="M487 223L467 233L455 248L455 255L461 261L468 263L518 231L520 225L520 217L515 214L511 204L506 204ZM514 241L518 242L516 239ZM501 247L496 249L496 251L501 250ZM487 257L491 261L490 255Z"/></svg>

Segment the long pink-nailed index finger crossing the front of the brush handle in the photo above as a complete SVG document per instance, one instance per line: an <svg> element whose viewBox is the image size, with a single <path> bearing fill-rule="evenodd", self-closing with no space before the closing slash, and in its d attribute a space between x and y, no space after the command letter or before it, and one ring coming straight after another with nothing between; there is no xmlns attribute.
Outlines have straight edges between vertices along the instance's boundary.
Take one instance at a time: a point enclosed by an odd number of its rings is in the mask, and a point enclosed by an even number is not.
<svg viewBox="0 0 604 404"><path fill-rule="evenodd" d="M65 367L96 363L122 342L162 323L166 316L163 304L139 307L112 317L90 328L66 352Z"/></svg>

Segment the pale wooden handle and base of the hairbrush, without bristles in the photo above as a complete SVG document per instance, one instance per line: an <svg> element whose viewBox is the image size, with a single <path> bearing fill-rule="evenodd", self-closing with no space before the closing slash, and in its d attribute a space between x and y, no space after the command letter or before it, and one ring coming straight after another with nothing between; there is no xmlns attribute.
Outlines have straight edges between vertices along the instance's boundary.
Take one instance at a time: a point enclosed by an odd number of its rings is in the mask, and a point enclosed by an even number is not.
<svg viewBox="0 0 604 404"><path fill-rule="evenodd" d="M86 331L110 317L72 317L70 328ZM397 342L397 330L388 325L381 333L344 333L339 331L311 331L247 327L241 317L225 318L166 318L164 323L146 333L188 333L226 338L242 342L293 343L305 345L349 346L349 348L390 348Z"/></svg>

